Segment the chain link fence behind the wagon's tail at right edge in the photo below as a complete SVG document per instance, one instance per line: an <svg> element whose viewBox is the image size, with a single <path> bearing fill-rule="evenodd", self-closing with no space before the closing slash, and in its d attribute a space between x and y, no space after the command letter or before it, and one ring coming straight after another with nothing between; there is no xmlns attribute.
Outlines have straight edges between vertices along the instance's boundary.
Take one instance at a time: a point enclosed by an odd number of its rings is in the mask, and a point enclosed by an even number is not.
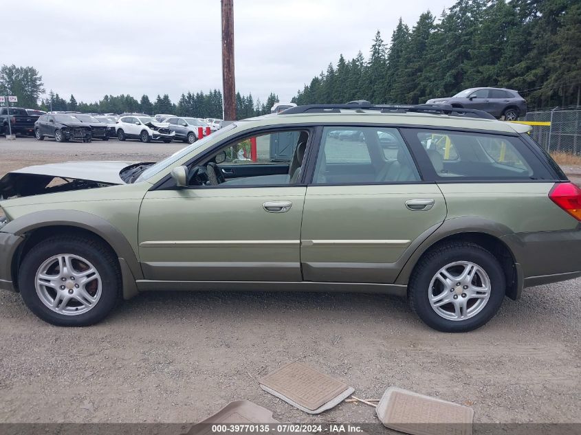
<svg viewBox="0 0 581 435"><path fill-rule="evenodd" d="M534 125L531 137L552 153L581 155L581 109L554 109L529 112L527 122L550 122Z"/></svg>

